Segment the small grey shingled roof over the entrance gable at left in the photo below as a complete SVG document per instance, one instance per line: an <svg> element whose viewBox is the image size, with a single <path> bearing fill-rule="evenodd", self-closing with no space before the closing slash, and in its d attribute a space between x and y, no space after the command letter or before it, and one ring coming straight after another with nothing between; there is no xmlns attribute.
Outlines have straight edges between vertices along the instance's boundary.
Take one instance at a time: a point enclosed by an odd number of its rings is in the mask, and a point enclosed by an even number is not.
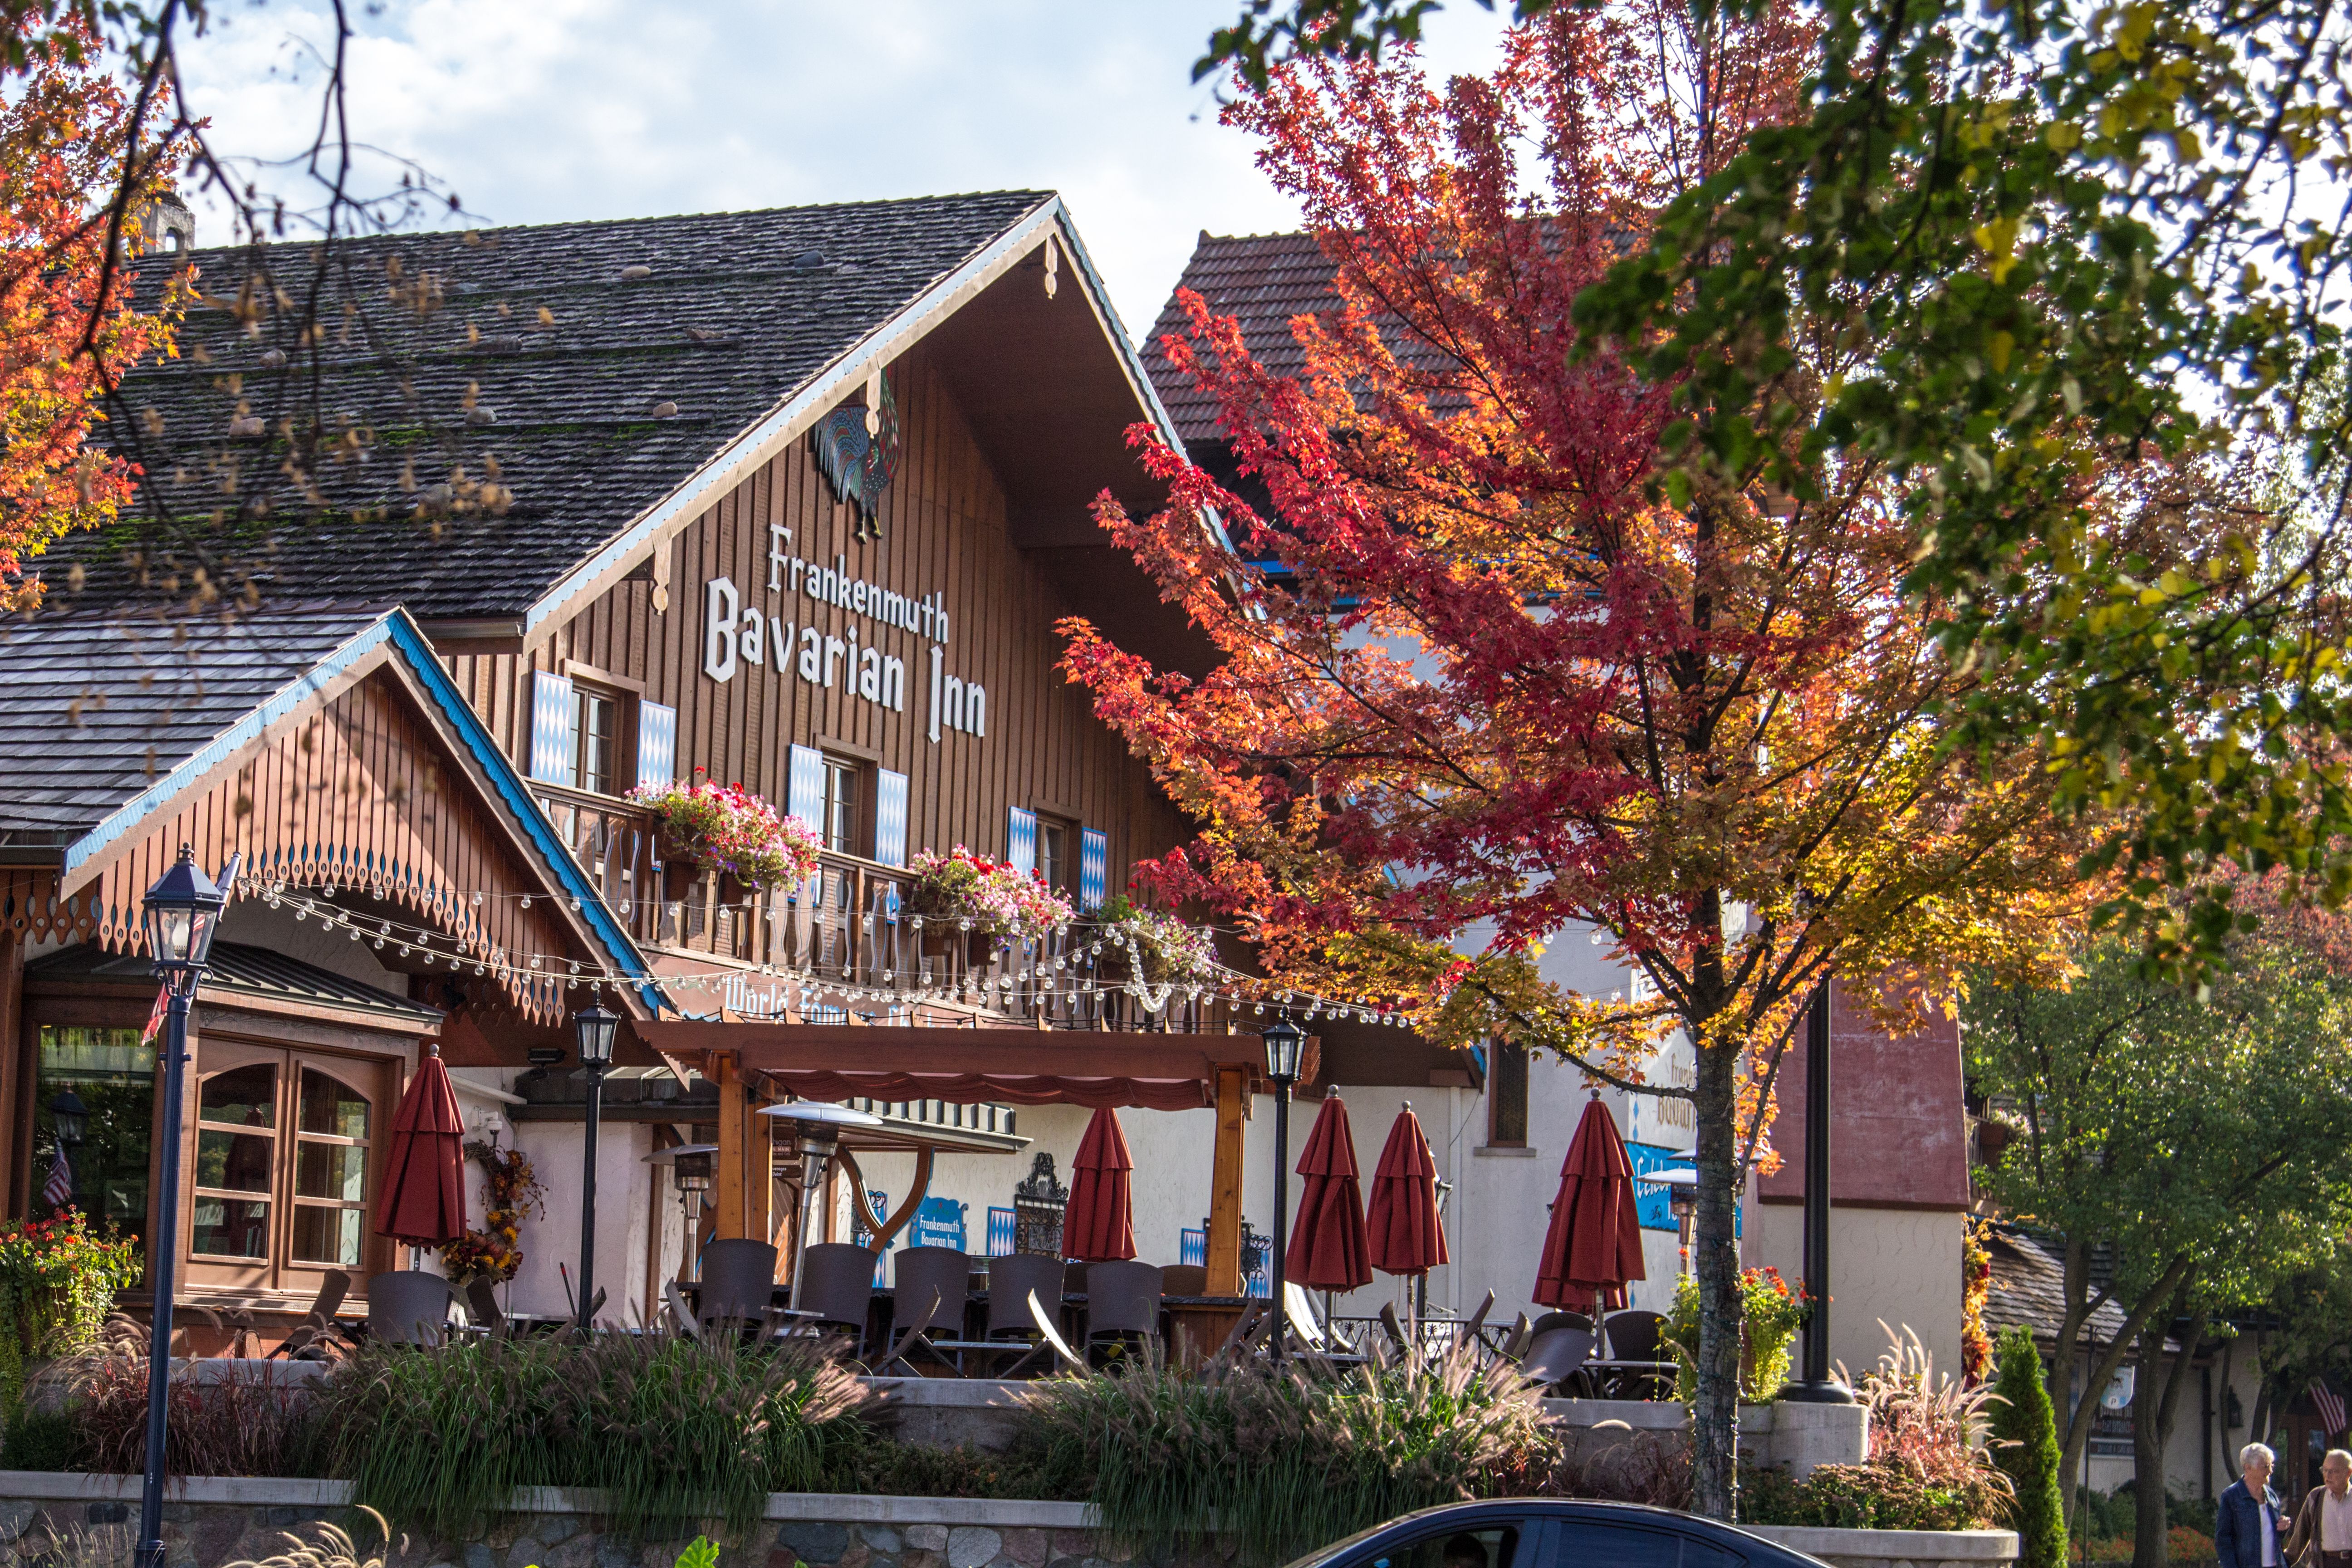
<svg viewBox="0 0 2352 1568"><path fill-rule="evenodd" d="M0 839L80 837L381 618L376 607L273 604L268 616L0 621Z"/></svg>

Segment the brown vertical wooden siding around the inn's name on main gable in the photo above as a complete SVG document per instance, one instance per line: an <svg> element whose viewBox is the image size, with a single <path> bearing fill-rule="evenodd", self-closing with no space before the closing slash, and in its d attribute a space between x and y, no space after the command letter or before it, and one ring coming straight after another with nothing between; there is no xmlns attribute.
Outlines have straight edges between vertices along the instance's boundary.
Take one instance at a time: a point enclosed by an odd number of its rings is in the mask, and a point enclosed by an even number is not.
<svg viewBox="0 0 2352 1568"><path fill-rule="evenodd" d="M833 498L807 442L795 442L703 517L670 552L670 602L654 609L652 574L628 581L560 625L527 656L456 656L452 672L517 764L529 762L529 679L572 663L628 682L677 708L677 773L701 764L786 804L790 745L830 745L908 776L908 853L967 844L1004 856L1007 806L1044 809L1108 835L1108 886L1127 867L1183 842L1176 809L1143 762L1094 717L1089 696L1056 672L1068 609L1011 543L1007 494L922 348L891 369L901 463L882 496L882 538L856 538L856 512ZM1040 440L1049 440L1042 435ZM988 691L988 733L941 729L929 738L929 639L807 595L769 592L769 524L793 531L790 555L908 597L943 595L946 672ZM743 604L818 632L868 632L906 661L906 710L823 689L774 668L703 675L706 583L731 578ZM1138 595L1148 595L1138 571ZM814 616L814 621L811 621ZM626 762L626 759L623 759ZM626 769L623 769L626 771ZM870 811L868 811L870 818ZM870 825L868 825L870 827ZM1077 844L1073 842L1073 858Z"/></svg>

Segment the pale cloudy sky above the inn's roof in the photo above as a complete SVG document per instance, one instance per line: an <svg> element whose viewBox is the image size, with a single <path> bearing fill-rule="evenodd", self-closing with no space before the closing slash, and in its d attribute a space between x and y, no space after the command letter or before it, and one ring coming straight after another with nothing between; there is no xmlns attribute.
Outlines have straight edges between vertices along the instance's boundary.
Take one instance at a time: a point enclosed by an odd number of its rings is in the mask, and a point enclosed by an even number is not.
<svg viewBox="0 0 2352 1568"><path fill-rule="evenodd" d="M383 0L353 5L350 118L492 223L1049 188L1129 331L1200 230L1296 214L1190 66L1237 0ZM362 14L365 12L365 14ZM1454 0L1430 63L1498 21ZM214 143L285 158L318 118L322 5L230 0L186 47ZM388 165L379 162L381 169ZM282 172L252 169L263 183ZM397 174L393 174L397 179ZM200 242L228 237L200 205Z"/></svg>

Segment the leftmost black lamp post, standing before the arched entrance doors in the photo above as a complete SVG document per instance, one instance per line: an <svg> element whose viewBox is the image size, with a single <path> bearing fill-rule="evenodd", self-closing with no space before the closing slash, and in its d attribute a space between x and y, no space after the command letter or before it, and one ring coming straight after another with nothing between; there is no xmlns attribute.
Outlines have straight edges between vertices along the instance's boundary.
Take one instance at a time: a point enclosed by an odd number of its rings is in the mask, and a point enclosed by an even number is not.
<svg viewBox="0 0 2352 1568"><path fill-rule="evenodd" d="M221 884L235 884L230 858ZM155 1182L155 1244L148 1274L155 1284L155 1321L148 1338L148 1443L146 1486L139 1493L139 1568L162 1568L162 1443L165 1399L172 1389L172 1288L179 1265L179 1114L188 1081L188 1001L212 961L212 938L221 926L228 893L179 846L179 860L148 889L141 924L155 978L162 980L167 1018L162 1044L162 1168ZM52 1105L54 1110L54 1105ZM64 1133L59 1133L64 1135Z"/></svg>

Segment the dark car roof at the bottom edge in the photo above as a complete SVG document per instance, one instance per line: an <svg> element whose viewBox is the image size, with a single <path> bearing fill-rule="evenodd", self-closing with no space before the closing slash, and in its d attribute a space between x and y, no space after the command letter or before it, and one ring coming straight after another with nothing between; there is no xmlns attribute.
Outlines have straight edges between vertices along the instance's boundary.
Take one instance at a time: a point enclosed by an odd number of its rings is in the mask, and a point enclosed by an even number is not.
<svg viewBox="0 0 2352 1568"><path fill-rule="evenodd" d="M1823 1568L1733 1526L1642 1507L1501 1497L1421 1509L1301 1556L1291 1568Z"/></svg>

